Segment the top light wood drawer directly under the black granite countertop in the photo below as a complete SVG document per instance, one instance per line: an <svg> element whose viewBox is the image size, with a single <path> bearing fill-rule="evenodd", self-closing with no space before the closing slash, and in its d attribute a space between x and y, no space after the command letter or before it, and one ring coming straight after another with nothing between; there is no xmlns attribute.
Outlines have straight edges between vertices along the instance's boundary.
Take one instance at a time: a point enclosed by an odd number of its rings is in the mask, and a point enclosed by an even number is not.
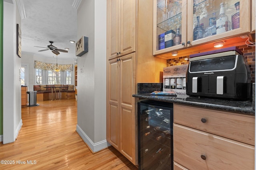
<svg viewBox="0 0 256 170"><path fill-rule="evenodd" d="M254 145L254 121L254 115L174 104L174 123L250 145Z"/></svg>

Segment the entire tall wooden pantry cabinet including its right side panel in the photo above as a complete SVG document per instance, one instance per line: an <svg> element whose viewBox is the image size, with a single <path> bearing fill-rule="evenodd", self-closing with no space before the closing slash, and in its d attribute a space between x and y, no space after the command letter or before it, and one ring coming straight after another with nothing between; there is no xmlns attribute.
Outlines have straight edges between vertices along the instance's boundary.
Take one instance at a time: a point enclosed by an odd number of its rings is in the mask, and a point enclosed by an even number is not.
<svg viewBox="0 0 256 170"><path fill-rule="evenodd" d="M107 0L107 141L134 165L137 83L161 82L166 60L153 56L153 0Z"/></svg>

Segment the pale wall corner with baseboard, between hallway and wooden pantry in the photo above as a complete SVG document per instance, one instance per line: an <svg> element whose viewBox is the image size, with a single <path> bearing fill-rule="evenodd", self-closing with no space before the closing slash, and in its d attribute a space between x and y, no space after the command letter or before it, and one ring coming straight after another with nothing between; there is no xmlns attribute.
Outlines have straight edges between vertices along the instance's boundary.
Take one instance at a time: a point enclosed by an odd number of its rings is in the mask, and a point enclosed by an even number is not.
<svg viewBox="0 0 256 170"><path fill-rule="evenodd" d="M88 53L78 57L77 131L94 152L106 142L106 0L83 0L77 40L88 37ZM84 68L84 72L80 72Z"/></svg>

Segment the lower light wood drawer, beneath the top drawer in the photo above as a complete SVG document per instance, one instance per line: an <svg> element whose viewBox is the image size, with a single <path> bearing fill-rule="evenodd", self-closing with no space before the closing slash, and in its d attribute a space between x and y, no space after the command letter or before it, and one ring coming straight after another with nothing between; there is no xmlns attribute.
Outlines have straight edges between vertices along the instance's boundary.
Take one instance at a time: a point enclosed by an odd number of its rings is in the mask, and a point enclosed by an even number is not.
<svg viewBox="0 0 256 170"><path fill-rule="evenodd" d="M254 169L252 145L175 123L173 132L174 161L188 169Z"/></svg>

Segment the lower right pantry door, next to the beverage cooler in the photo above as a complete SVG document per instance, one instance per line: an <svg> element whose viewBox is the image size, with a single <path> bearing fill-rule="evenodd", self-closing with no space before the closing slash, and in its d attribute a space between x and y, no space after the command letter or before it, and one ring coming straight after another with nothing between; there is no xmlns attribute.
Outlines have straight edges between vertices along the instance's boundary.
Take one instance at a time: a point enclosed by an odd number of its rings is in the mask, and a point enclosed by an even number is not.
<svg viewBox="0 0 256 170"><path fill-rule="evenodd" d="M120 57L120 151L136 163L135 53Z"/></svg>

